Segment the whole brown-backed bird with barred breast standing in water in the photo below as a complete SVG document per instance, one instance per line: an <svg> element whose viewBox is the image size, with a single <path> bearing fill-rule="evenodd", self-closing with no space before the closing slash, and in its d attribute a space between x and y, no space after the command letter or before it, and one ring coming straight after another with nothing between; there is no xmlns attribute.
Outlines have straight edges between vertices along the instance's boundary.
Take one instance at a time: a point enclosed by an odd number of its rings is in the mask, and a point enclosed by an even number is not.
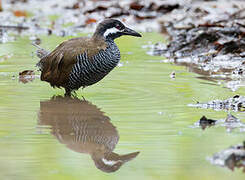
<svg viewBox="0 0 245 180"><path fill-rule="evenodd" d="M99 82L119 63L120 51L114 40L124 35L142 37L117 19L105 19L91 37L69 39L52 52L39 48L41 81L64 88L66 96Z"/></svg>

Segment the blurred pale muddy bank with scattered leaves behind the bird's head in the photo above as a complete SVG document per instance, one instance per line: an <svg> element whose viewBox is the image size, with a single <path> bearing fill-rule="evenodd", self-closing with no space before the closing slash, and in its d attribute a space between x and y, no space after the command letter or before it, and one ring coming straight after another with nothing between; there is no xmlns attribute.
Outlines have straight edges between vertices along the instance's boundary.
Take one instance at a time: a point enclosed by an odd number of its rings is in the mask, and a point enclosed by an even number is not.
<svg viewBox="0 0 245 180"><path fill-rule="evenodd" d="M40 34L92 33L105 18L120 19L136 30L157 31L157 18L182 5L181 0L6 0L0 12L0 42L14 40L11 33L28 35L31 40Z"/></svg>

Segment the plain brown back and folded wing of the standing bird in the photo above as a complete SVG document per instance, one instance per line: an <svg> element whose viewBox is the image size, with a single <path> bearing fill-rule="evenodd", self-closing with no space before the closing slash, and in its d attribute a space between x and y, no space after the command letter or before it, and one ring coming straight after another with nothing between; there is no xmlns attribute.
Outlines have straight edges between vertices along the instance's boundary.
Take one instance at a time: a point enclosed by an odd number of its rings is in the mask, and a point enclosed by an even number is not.
<svg viewBox="0 0 245 180"><path fill-rule="evenodd" d="M80 37L64 41L40 60L41 80L49 82L53 87L66 87L72 67L77 62L77 55L86 52L90 58L106 47L106 42L98 38Z"/></svg>

